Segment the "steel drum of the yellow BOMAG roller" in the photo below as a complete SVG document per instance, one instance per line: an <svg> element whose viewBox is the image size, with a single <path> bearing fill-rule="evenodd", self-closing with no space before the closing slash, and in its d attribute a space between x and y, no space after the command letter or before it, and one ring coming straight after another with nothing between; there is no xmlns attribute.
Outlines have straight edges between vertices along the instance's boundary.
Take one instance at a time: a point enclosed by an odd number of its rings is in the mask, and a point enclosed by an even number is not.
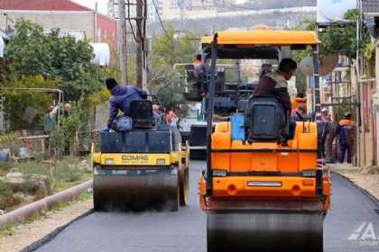
<svg viewBox="0 0 379 252"><path fill-rule="evenodd" d="M138 169L97 169L94 207L101 211L177 211L179 178L175 166Z"/></svg>

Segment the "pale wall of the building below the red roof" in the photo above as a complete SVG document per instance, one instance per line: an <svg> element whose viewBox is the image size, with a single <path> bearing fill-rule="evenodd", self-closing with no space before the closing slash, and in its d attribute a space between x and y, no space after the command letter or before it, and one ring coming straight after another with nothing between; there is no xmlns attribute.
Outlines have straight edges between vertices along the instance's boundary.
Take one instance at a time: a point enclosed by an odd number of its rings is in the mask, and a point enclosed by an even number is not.
<svg viewBox="0 0 379 252"><path fill-rule="evenodd" d="M82 30L86 31L86 37L90 41L95 41L95 13L94 12L48 12L48 11L2 11L14 21L8 24L14 26L19 19L31 20L39 23L44 29L60 28L61 30ZM0 28L5 29L5 15L0 15Z"/></svg>

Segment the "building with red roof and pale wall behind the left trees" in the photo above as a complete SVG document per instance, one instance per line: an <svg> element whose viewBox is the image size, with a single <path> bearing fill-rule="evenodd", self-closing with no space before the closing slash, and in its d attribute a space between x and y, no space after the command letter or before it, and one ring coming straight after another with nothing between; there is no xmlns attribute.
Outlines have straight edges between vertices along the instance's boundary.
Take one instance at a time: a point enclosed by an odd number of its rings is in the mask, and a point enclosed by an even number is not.
<svg viewBox="0 0 379 252"><path fill-rule="evenodd" d="M3 29L25 19L39 23L45 31L60 28L62 34L74 35L77 40L106 42L117 48L116 20L69 0L2 0L0 14Z"/></svg>

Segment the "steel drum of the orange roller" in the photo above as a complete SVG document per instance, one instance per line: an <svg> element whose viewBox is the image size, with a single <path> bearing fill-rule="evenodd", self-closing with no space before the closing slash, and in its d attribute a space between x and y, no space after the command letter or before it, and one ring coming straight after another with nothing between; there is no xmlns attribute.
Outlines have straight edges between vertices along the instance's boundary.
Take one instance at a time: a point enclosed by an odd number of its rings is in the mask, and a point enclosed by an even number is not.
<svg viewBox="0 0 379 252"><path fill-rule="evenodd" d="M323 251L319 212L208 212L208 252Z"/></svg>

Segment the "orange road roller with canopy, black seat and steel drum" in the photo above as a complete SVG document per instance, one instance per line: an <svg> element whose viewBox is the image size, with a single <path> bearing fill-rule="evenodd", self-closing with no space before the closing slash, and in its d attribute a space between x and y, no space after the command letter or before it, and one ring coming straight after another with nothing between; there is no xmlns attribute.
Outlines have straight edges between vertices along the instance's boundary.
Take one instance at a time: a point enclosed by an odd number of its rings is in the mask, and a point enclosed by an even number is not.
<svg viewBox="0 0 379 252"><path fill-rule="evenodd" d="M220 31L204 50L210 59L208 163L200 176L201 208L207 212L208 252L323 251L323 220L330 204L327 167L319 156L319 127L292 122L275 96L253 96L229 120L214 122L217 60L242 65L259 59L277 64L283 48L311 47L315 112L320 110L319 40L313 31ZM236 96L238 97L238 95Z"/></svg>

